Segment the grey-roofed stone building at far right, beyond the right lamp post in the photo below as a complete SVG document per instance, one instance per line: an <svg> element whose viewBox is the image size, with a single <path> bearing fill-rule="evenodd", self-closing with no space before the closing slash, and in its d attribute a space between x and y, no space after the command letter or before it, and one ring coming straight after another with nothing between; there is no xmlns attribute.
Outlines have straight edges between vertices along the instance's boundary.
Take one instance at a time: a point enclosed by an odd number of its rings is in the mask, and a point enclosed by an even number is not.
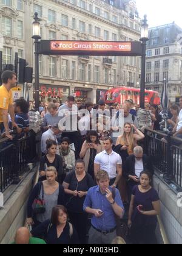
<svg viewBox="0 0 182 256"><path fill-rule="evenodd" d="M175 23L149 29L146 54L146 88L161 94L166 79L175 102L182 94L182 29Z"/></svg>

